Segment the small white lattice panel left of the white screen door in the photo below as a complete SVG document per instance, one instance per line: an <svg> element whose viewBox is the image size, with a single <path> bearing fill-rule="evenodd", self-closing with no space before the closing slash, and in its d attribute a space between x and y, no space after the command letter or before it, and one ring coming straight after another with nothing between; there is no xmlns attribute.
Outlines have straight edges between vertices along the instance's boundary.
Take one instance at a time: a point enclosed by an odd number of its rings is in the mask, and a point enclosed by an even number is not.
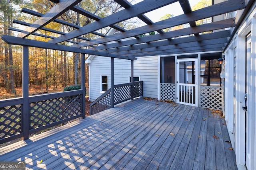
<svg viewBox="0 0 256 170"><path fill-rule="evenodd" d="M161 83L161 100L171 100L175 102L176 86L170 83Z"/></svg>

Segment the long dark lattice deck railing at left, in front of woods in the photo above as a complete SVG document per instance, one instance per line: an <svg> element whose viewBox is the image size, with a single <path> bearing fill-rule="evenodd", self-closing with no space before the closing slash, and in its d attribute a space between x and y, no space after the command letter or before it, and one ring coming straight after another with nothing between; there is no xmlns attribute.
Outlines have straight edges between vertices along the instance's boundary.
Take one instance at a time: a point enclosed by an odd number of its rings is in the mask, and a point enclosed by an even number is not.
<svg viewBox="0 0 256 170"><path fill-rule="evenodd" d="M83 90L74 90L30 96L28 101L23 98L1 100L0 144L85 117L82 94Z"/></svg>

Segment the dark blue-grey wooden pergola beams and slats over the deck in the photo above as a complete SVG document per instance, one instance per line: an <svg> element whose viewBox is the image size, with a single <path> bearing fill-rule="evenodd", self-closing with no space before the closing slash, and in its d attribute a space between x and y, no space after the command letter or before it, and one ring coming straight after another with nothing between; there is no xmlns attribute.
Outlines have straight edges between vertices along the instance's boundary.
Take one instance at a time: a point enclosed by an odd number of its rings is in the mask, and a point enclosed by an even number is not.
<svg viewBox="0 0 256 170"><path fill-rule="evenodd" d="M128 0L114 0L123 9L105 18L100 18L96 14L78 7L77 4L82 0L51 1L56 4L45 14L22 9L22 12L38 17L38 20L33 23L14 20L14 23L24 25L26 28L24 30L9 28L19 33L16 36L2 35L2 39L15 45L28 45L130 60L150 55L222 51L232 34L230 30L223 30L236 27L239 18L213 21L202 25L196 25L196 21L242 10L246 8L246 3L248 4L253 0L247 2L245 0L228 0L196 11L191 10L188 0L144 0L133 5ZM158 22L151 21L145 15L172 3L179 3L184 14ZM94 21L79 26L61 20L60 16L69 10ZM118 23L134 17L143 22L144 26L126 30L118 25ZM73 31L61 32L49 29L47 25L52 22L66 25L72 28ZM190 26L181 29L176 28L168 32L164 31L166 28L182 24ZM114 28L120 32L113 35L103 34L100 33L102 28ZM42 34L42 31L44 34ZM140 36L152 31L157 33L146 37ZM52 36L47 33L51 33ZM97 35L97 38L88 38L86 35L90 33ZM38 36L44 37L48 42L35 40Z"/></svg>

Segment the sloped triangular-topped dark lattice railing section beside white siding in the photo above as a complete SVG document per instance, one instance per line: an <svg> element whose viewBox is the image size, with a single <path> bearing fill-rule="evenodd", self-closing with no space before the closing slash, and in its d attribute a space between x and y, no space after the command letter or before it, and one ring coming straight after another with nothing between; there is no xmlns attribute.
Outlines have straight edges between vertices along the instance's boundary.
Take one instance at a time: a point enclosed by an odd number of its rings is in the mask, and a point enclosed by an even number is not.
<svg viewBox="0 0 256 170"><path fill-rule="evenodd" d="M110 103L111 100L111 92L110 90L106 93L106 96L98 100L95 104L92 104L90 107L90 114L94 115L96 113L99 113L100 111L103 111L111 106Z"/></svg>

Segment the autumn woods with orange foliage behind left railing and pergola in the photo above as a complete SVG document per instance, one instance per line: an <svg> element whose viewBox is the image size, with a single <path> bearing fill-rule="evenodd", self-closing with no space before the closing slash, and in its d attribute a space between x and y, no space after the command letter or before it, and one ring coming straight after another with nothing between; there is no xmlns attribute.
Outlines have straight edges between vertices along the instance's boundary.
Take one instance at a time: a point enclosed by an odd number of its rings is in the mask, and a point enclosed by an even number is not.
<svg viewBox="0 0 256 170"><path fill-rule="evenodd" d="M90 11L101 18L113 14L122 7L113 0L84 0L77 6ZM18 30L23 30L26 26L33 23L50 10L54 3L49 0L0 0L0 34L13 35L18 34ZM22 8L36 11L37 14L26 14ZM87 25L94 20L78 14L74 11L68 11L59 18L70 24L50 23L45 27L59 32L44 31L42 29L36 33L45 35L30 35L35 40L48 41L50 37L59 37L64 33L73 31L74 28ZM16 21L24 21L17 24ZM118 23L121 27L133 28L134 20ZM71 26L70 26L71 25ZM9 27L15 28L8 29ZM95 34L87 34L84 38L95 39L106 34L109 28L104 28ZM67 43L67 42L63 42ZM68 44L66 44L68 45ZM70 43L72 45L72 43ZM62 87L63 90L70 84L80 84L80 64L81 54L68 53L49 49L29 48L29 86L40 86L42 91L48 92L50 88ZM88 56L86 56L88 57ZM83 61L84 62L84 61ZM87 68L87 67L86 67ZM88 74L88 70L86 70ZM88 76L86 75L86 82ZM17 88L22 88L22 47L17 45L8 45L0 39L0 91L4 93L15 94L14 97L22 96L22 92L16 95ZM8 95L7 95L8 96ZM0 96L0 99L3 99Z"/></svg>

